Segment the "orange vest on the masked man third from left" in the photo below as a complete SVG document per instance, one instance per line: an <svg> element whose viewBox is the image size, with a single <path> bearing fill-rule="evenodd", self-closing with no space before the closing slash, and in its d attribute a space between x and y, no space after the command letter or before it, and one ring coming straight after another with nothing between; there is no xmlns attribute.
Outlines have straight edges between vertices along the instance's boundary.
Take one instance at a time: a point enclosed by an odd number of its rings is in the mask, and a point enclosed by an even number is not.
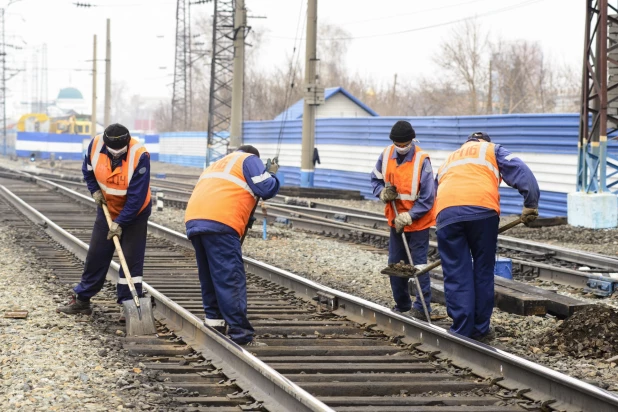
<svg viewBox="0 0 618 412"><path fill-rule="evenodd" d="M397 159L391 159L395 150L395 145L390 145L382 153L382 171L381 173L374 174L384 179L384 182L389 182L391 185L397 187L397 199L395 205L399 213L408 212L412 210L414 201L418 198L418 194L421 190L421 172L423 171L423 162L429 158L427 152L423 152L418 145L414 146L413 161L405 162L397 165ZM435 203L431 210L429 210L423 217L412 222L411 225L404 228L405 232L418 232L420 230L427 229L436 224L436 215L434 212ZM389 202L384 206L384 215L388 220L388 224L391 227L393 220L395 219L395 211L392 204Z"/></svg>

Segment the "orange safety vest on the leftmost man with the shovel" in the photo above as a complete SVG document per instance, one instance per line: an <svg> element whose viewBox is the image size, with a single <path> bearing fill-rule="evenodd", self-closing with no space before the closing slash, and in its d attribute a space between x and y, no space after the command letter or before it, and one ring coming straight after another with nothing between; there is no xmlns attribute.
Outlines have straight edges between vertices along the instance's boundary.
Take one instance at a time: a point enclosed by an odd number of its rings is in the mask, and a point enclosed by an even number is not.
<svg viewBox="0 0 618 412"><path fill-rule="evenodd" d="M112 161L109 156L106 154L101 156L103 144L103 137L101 135L95 136L92 141L90 163L94 170L94 177L97 179L99 188L101 188L101 192L105 197L109 214L113 220L118 217L124 204L127 202L127 189L131 182L131 178L133 178L135 174L139 158L142 154L148 153L148 151L139 140L131 138L129 147L127 148L126 160L123 160L122 164L118 165L114 171L112 171ZM148 188L148 196L146 196L146 200L144 200L144 204L138 214L146 209L146 206L149 204L150 188Z"/></svg>

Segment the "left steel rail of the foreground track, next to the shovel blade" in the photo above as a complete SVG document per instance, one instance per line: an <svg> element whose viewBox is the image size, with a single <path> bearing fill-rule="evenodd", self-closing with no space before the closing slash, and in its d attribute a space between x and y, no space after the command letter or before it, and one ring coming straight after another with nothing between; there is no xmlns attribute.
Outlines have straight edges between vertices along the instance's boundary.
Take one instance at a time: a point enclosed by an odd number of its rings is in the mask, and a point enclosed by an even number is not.
<svg viewBox="0 0 618 412"><path fill-rule="evenodd" d="M59 188L59 185L53 182L47 181L47 183ZM5 186L0 185L0 196L32 222L39 224L52 239L80 260L86 260L88 252L86 243L62 229ZM80 193L73 192L71 197L94 205L92 199ZM112 262L108 271L108 279L116 283L119 270L120 266ZM164 323L168 324L174 333L181 336L194 349L212 359L213 363L217 364L228 378L236 379L243 390L248 390L251 396L262 402L269 411L334 411L241 346L205 326L197 316L148 283L142 282L142 285L154 298L158 318L165 319Z"/></svg>

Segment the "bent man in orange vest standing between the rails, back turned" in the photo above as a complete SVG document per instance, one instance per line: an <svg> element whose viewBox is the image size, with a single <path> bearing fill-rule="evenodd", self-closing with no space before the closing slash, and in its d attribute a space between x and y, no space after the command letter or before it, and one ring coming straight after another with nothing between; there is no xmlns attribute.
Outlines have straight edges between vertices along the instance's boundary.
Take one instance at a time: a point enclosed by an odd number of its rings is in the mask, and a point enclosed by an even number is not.
<svg viewBox="0 0 618 412"><path fill-rule="evenodd" d="M265 344L253 338L247 319L241 238L258 199L279 191L278 168L273 163L266 169L255 147L241 146L202 173L185 213L202 286L204 324L219 331L227 324L230 338L243 346Z"/></svg>

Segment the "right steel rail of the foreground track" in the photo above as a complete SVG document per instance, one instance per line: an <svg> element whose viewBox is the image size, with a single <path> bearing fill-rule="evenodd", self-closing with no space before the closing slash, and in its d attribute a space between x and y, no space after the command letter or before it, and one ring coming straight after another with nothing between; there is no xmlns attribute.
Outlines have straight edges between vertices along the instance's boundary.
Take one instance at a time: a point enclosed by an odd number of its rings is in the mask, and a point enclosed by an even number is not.
<svg viewBox="0 0 618 412"><path fill-rule="evenodd" d="M53 182L45 182L43 179L37 181L94 206L92 199L87 196ZM152 222L149 222L148 226L150 233L192 249L191 242L184 234ZM516 391L519 396L540 402L544 407L595 412L615 411L618 408L618 396L596 386L500 349L452 334L438 326L398 315L383 306L320 285L291 272L251 258L243 259L248 272L293 290L309 300L322 300L323 297L330 296L325 303L335 314L358 323L375 325L375 329L388 334L403 336L406 343L420 343L416 346L417 349L438 359L448 359L458 367L469 368L478 376L491 378L498 385ZM188 316L200 323L193 315ZM207 330L205 327L203 329Z"/></svg>

